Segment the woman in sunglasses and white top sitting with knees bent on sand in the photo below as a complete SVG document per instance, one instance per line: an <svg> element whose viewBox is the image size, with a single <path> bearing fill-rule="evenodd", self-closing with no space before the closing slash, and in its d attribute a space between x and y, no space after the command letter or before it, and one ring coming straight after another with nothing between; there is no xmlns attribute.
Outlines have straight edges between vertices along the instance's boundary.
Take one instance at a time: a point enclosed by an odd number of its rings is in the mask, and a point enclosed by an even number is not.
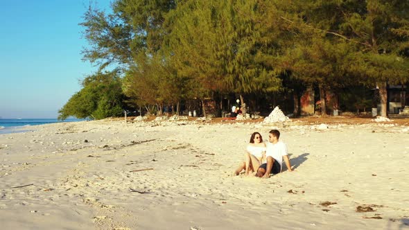
<svg viewBox="0 0 409 230"><path fill-rule="evenodd" d="M239 175L243 169L245 170L245 175L249 175L250 171L256 171L266 156L266 143L263 143L263 137L259 132L252 134L246 150L244 154L245 160L236 169L236 175Z"/></svg>

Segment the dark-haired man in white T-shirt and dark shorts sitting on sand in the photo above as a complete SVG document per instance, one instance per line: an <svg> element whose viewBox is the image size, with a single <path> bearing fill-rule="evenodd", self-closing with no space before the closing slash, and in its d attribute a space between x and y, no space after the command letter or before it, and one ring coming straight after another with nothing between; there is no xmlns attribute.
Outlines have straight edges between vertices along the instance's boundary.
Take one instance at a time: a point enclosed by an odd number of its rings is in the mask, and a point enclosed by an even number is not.
<svg viewBox="0 0 409 230"><path fill-rule="evenodd" d="M261 164L256 172L256 177L268 178L270 173L277 174L282 170L283 159L286 162L288 171L293 172L291 169L290 160L288 159L287 146L285 143L279 141L279 130L271 130L268 134L268 140L266 150L267 163Z"/></svg>

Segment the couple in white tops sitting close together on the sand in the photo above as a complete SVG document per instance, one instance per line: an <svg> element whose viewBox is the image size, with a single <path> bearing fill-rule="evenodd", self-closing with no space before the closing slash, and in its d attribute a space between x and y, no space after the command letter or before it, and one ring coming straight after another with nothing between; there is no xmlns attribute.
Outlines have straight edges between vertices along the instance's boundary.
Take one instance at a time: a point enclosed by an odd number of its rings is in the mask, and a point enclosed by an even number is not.
<svg viewBox="0 0 409 230"><path fill-rule="evenodd" d="M283 159L286 162L288 171L292 172L287 146L279 141L279 138L279 130L271 130L268 133L269 142L264 143L261 134L254 132L250 137L250 143L247 145L245 161L238 166L236 175L239 175L242 170L245 170L245 175L257 170L256 177L268 178L270 173L277 174L281 172Z"/></svg>

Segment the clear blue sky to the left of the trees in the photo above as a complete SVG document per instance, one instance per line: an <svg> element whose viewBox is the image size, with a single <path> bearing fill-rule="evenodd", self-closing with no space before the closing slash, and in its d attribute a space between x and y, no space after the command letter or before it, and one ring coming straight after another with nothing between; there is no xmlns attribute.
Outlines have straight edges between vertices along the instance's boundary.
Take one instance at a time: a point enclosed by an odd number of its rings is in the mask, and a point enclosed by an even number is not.
<svg viewBox="0 0 409 230"><path fill-rule="evenodd" d="M97 1L110 10L110 0ZM0 0L0 116L56 118L96 68L82 62L89 0Z"/></svg>

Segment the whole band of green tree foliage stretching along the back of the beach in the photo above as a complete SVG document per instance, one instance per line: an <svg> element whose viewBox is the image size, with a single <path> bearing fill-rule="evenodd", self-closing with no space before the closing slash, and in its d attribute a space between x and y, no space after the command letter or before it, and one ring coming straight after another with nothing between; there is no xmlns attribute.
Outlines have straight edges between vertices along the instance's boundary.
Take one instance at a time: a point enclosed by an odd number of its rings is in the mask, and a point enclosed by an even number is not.
<svg viewBox="0 0 409 230"><path fill-rule="evenodd" d="M85 12L80 25L91 46L83 55L100 71L121 71L112 81L87 78L62 118L120 114L122 93L106 89L123 88L129 101L152 108L306 85L408 82L408 1L116 0L112 8Z"/></svg>

